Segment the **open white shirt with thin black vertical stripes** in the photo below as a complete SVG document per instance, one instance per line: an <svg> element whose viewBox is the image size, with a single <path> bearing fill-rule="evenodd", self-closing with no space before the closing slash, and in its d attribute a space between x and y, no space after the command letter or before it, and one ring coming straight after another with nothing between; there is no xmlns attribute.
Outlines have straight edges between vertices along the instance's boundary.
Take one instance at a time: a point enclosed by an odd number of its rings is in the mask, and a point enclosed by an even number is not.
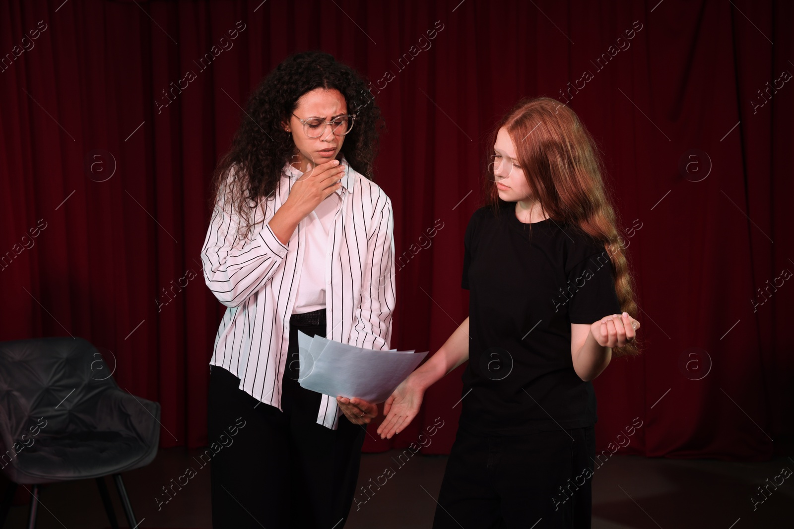
<svg viewBox="0 0 794 529"><path fill-rule="evenodd" d="M341 207L328 236L326 337L357 347L387 350L395 307L394 220L391 200L349 167L341 178ZM287 164L279 188L254 209L253 232L237 236L237 217L218 194L201 252L206 286L228 309L215 337L211 366L240 378L240 389L281 409L289 316L306 246L304 218L285 246L267 224L287 201L297 171ZM336 396L323 395L317 422L337 429Z"/></svg>

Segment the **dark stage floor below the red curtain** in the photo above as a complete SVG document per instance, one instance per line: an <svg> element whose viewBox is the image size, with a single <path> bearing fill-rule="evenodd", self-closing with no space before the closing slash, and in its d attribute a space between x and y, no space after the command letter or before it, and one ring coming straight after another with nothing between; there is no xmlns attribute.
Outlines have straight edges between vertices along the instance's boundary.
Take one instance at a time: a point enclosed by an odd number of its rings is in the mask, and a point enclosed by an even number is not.
<svg viewBox="0 0 794 529"><path fill-rule="evenodd" d="M139 527L199 529L210 527L209 468L198 471L168 504L157 509L155 496L163 485L184 472L199 450L160 450L144 469L125 474ZM365 454L359 484L394 466L395 453ZM434 497L441 485L445 456L411 458L367 503L356 504L348 529L430 527ZM757 485L772 483L781 469L794 470L792 458L761 463L706 460L646 459L615 455L593 476L594 529L776 529L794 527L794 476L777 489L769 486L763 503ZM766 481L769 479L769 481ZM781 482L777 477L777 482ZM110 482L109 482L110 485ZM111 489L118 516L121 504ZM364 496L362 496L364 497ZM39 529L102 529L108 527L94 481L48 486L42 492ZM27 506L11 508L6 528L25 527ZM461 520L463 527L465 521ZM528 524L527 527L530 527ZM329 528L330 529L330 528ZM338 529L338 528L337 528ZM468 527L466 527L468 529ZM472 528L476 529L476 528ZM539 523L535 529L542 529Z"/></svg>

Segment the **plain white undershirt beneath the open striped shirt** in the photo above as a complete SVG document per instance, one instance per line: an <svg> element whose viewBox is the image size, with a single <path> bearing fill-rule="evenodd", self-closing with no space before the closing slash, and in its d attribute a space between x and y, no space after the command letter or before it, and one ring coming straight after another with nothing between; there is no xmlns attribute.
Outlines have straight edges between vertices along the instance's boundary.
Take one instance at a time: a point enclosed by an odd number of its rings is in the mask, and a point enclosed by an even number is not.
<svg viewBox="0 0 794 529"><path fill-rule="evenodd" d="M303 174L294 170L294 174ZM326 200L306 215L306 246L303 249L303 266L295 294L293 314L326 308L326 262L328 234L333 226L341 197L334 191Z"/></svg>

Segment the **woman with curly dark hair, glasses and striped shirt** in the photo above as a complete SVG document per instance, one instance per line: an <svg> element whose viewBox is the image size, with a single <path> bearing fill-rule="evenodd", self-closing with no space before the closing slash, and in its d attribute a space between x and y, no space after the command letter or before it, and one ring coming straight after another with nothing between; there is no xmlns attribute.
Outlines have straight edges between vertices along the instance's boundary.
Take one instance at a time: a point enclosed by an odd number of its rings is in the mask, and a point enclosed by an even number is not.
<svg viewBox="0 0 794 529"><path fill-rule="evenodd" d="M344 525L377 408L301 387L297 337L389 348L394 221L371 179L380 121L353 69L299 53L252 94L218 163L201 254L228 307L202 456L216 528Z"/></svg>

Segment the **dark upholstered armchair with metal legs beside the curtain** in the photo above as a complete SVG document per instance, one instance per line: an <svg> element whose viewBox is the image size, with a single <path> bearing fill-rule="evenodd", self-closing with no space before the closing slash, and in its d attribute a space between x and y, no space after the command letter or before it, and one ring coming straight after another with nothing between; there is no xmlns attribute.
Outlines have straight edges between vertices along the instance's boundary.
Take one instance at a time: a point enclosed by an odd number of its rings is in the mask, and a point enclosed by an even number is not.
<svg viewBox="0 0 794 529"><path fill-rule="evenodd" d="M0 466L11 481L0 527L18 485L33 485L33 529L40 485L94 478L110 525L118 529L105 485L109 475L129 527L137 526L121 473L155 458L160 404L134 397L110 374L99 351L82 338L0 343Z"/></svg>

